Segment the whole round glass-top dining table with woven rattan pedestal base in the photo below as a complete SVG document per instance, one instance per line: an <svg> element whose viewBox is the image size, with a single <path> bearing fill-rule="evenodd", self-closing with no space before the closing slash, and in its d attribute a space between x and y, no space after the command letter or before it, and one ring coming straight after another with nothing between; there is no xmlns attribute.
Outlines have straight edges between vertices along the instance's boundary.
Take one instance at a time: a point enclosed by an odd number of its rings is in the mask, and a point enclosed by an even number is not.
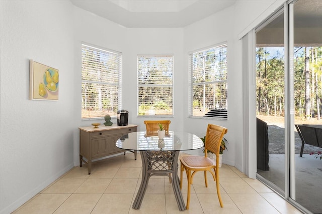
<svg viewBox="0 0 322 214"><path fill-rule="evenodd" d="M121 149L140 151L142 179L133 202L134 209L140 208L148 180L153 175L169 176L179 210L186 209L180 189L178 157L180 151L203 147L203 142L198 136L188 132L169 131L168 135L159 139L157 135L147 135L145 131L139 131L122 136L115 145Z"/></svg>

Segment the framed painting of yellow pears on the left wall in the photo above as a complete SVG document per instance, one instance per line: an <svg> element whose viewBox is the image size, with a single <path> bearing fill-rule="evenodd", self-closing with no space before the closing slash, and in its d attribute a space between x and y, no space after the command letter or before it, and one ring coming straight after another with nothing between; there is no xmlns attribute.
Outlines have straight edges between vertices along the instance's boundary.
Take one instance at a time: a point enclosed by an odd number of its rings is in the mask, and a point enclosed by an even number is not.
<svg viewBox="0 0 322 214"><path fill-rule="evenodd" d="M58 69L30 60L31 100L58 100Z"/></svg>

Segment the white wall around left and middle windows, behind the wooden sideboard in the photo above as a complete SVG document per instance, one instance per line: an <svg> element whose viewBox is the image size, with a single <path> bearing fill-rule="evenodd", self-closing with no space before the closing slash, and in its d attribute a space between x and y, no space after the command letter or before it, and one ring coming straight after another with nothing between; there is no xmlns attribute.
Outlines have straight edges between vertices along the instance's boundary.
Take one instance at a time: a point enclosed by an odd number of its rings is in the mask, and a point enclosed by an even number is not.
<svg viewBox="0 0 322 214"><path fill-rule="evenodd" d="M88 13L82 9L74 9L74 56L75 56L75 87L74 97L77 106L81 106L81 44L88 44L112 49L122 53L123 57L123 109L129 111L129 123L139 125L138 130L145 130L143 121L148 117L137 117L137 82L136 56L137 54L172 54L175 58L175 102L182 103L182 29L127 29L106 19ZM86 30L84 30L86 28ZM178 84L177 84L178 83ZM175 108L175 116L168 118L174 130L183 130L182 106ZM151 119L151 117L150 117ZM153 119L153 118L152 118ZM155 119L155 118L154 118ZM163 118L159 118L163 119ZM81 120L81 108L74 111L75 127L91 126L93 120ZM104 119L97 120L103 123ZM117 123L112 118L113 123ZM74 129L74 164L79 165L79 130Z"/></svg>

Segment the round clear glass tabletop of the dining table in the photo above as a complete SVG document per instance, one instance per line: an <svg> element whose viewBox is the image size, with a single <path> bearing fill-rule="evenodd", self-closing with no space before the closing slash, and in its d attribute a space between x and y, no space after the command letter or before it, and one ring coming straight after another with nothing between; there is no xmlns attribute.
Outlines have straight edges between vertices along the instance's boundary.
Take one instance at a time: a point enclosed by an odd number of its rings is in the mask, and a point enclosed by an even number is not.
<svg viewBox="0 0 322 214"><path fill-rule="evenodd" d="M116 141L116 147L138 151L184 151L203 147L200 137L188 133L169 131L164 139L147 135L145 131L131 132Z"/></svg>

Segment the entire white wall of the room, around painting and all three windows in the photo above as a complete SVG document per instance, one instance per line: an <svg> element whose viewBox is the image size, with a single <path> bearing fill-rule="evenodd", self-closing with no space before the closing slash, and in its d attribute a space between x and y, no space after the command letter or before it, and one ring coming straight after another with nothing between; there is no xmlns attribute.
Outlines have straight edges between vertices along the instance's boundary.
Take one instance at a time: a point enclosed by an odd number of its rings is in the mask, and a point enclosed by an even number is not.
<svg viewBox="0 0 322 214"><path fill-rule="evenodd" d="M169 118L171 127L204 136L208 123L226 126L229 144L223 162L243 170L237 35L258 22L275 1L240 2L184 29L126 29L69 1L1 0L0 213L10 213L79 165L77 127L94 122L81 120L82 42L122 52L123 108L130 113L129 123L138 124L139 130L144 130L146 118L136 116L136 55L173 54L175 116ZM188 52L223 41L228 43L228 120L188 118ZM28 99L30 59L59 69L58 101Z"/></svg>

